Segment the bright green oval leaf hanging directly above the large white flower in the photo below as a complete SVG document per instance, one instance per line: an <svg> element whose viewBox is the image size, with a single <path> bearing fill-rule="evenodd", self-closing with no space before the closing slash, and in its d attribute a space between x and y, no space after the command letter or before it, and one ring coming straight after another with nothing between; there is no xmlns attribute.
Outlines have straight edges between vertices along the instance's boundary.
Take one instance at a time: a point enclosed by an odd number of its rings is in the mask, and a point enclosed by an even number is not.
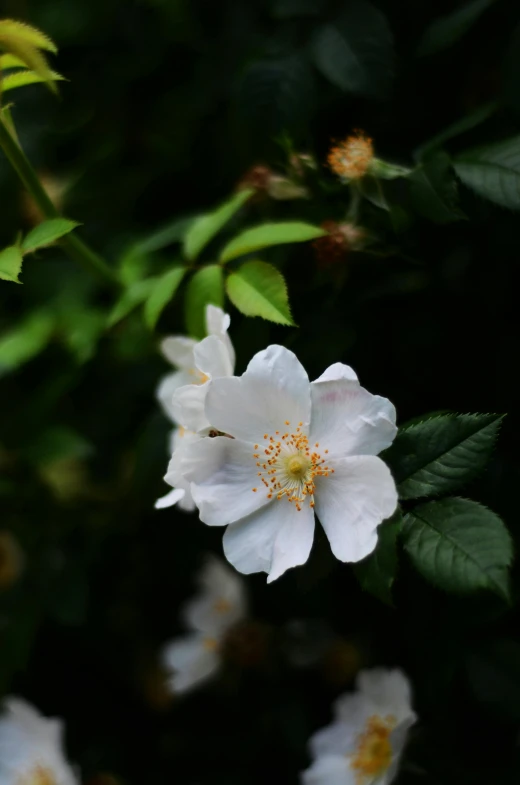
<svg viewBox="0 0 520 785"><path fill-rule="evenodd" d="M233 305L246 316L294 325L285 279L271 264L246 262L228 277L226 291Z"/></svg>

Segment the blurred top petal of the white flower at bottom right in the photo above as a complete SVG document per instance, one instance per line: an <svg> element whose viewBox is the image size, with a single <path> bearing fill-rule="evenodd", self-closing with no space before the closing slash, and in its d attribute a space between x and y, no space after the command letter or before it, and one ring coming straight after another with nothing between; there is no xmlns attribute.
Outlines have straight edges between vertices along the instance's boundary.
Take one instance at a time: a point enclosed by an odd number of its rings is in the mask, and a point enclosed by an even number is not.
<svg viewBox="0 0 520 785"><path fill-rule="evenodd" d="M398 722L409 717L412 712L412 692L410 682L399 669L372 668L360 671L356 686L377 707L377 713L391 714Z"/></svg>

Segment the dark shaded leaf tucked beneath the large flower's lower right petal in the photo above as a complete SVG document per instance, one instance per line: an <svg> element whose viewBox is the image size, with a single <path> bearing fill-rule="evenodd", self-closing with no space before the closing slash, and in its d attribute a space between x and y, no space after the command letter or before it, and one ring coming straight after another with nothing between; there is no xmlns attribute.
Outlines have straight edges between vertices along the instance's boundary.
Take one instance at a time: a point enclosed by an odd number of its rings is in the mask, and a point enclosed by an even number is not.
<svg viewBox="0 0 520 785"><path fill-rule="evenodd" d="M401 530L399 510L377 529L376 549L363 561L354 565L354 573L361 588L381 602L392 605L392 585L397 572L397 538Z"/></svg>

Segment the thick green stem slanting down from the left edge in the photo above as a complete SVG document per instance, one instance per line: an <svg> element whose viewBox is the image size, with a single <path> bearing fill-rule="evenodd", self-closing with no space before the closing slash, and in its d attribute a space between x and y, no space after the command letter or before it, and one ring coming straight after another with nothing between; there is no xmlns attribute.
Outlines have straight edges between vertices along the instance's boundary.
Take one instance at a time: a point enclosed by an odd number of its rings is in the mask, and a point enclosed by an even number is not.
<svg viewBox="0 0 520 785"><path fill-rule="evenodd" d="M29 163L20 145L13 138L4 117L0 113L0 147L6 158L29 191L45 218L60 218L60 213L49 199L48 194L38 179L38 175ZM95 251L88 247L74 233L62 237L60 245L68 255L79 262L86 270L94 272L98 277L112 286L120 286L120 281L108 264Z"/></svg>

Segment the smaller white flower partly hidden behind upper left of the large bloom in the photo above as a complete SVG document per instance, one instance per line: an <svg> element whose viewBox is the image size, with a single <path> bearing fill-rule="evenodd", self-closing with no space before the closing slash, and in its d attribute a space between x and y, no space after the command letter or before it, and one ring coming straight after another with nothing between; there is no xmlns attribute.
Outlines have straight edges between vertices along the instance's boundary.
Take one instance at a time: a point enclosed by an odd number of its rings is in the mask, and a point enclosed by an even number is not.
<svg viewBox="0 0 520 785"><path fill-rule="evenodd" d="M208 335L212 336L210 346L213 346L214 351L221 358L221 365L224 366L224 370L227 372L228 368L230 368L229 374L232 374L235 365L235 352L227 334L229 322L228 314L224 313L221 308L215 305L206 306L206 330ZM215 343L216 341L218 343ZM206 364L204 352L201 352L200 356L198 354L200 343L204 343L204 341L198 342L193 338L185 336L171 336L165 338L161 343L163 355L178 370L168 374L161 380L157 388L157 398L166 416L174 423L179 422L173 408L174 392L179 387L184 387L185 385L197 386L204 384L210 375L199 366L199 359L202 359L203 365ZM215 346L217 347L216 350ZM215 363L212 363L210 372L215 370L214 366ZM222 375L227 375L227 373ZM186 425L186 423L181 424ZM192 430L199 429L193 428Z"/></svg>

